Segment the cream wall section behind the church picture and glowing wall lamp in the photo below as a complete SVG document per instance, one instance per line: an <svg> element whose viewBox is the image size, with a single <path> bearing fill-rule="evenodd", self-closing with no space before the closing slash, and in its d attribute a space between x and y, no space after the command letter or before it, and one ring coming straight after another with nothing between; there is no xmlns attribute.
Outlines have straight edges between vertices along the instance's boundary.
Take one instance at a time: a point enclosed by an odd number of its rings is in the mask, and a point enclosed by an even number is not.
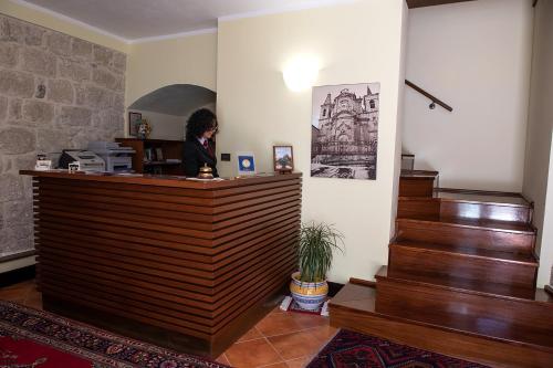
<svg viewBox="0 0 553 368"><path fill-rule="evenodd" d="M251 150L259 171L272 171L272 146L294 147L303 177L303 219L334 223L345 235L330 278L372 280L387 263L397 185L396 134L401 93L403 0L354 3L219 23L217 112L219 153ZM320 57L317 85L380 82L377 180L310 177L311 91L293 93L282 78L299 53ZM220 162L236 174L236 156Z"/></svg>

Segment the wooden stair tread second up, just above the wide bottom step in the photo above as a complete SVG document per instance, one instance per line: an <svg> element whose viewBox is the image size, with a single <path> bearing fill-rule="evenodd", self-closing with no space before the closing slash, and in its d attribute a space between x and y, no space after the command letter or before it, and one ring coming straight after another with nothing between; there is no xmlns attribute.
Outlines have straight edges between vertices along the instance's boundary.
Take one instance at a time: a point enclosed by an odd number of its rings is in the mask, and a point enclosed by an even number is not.
<svg viewBox="0 0 553 368"><path fill-rule="evenodd" d="M491 297L503 297L520 302L545 303L553 308L553 301L546 299L541 292L534 288L519 287L514 285L479 282L469 278L453 277L447 274L421 274L389 271L382 266L375 277L392 278L400 283L424 284L429 287L442 287L458 293L473 293ZM552 309L553 313L553 309Z"/></svg>

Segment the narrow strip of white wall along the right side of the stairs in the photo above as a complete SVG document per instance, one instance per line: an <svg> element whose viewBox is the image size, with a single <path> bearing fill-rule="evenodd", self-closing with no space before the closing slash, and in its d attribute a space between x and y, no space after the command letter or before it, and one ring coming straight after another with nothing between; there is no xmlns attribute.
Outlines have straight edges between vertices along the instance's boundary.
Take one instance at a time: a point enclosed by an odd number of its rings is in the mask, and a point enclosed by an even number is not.
<svg viewBox="0 0 553 368"><path fill-rule="evenodd" d="M550 282L553 266L553 1L535 8L532 85L523 194L534 201L540 253L538 285ZM549 178L549 180L547 180Z"/></svg>

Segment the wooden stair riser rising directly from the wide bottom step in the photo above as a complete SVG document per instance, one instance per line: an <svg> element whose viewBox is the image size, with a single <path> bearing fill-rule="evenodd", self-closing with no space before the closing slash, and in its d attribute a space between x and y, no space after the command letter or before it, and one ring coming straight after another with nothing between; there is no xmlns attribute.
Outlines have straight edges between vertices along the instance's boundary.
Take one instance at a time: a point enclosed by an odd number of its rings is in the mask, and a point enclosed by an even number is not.
<svg viewBox="0 0 553 368"><path fill-rule="evenodd" d="M552 308L539 303L400 284L389 278L379 278L376 288L377 313L452 328L459 326L459 318L466 318L467 330L487 324L491 336L494 329L503 330L512 324L553 330Z"/></svg>

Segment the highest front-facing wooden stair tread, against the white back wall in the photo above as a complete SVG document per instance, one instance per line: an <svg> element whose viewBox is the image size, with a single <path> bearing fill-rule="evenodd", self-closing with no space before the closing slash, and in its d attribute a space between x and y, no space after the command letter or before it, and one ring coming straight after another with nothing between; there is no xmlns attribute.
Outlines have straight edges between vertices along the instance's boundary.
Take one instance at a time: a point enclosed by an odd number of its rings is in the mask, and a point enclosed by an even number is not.
<svg viewBox="0 0 553 368"><path fill-rule="evenodd" d="M440 188L435 190L434 196L442 201L531 207L530 202L518 193Z"/></svg>

